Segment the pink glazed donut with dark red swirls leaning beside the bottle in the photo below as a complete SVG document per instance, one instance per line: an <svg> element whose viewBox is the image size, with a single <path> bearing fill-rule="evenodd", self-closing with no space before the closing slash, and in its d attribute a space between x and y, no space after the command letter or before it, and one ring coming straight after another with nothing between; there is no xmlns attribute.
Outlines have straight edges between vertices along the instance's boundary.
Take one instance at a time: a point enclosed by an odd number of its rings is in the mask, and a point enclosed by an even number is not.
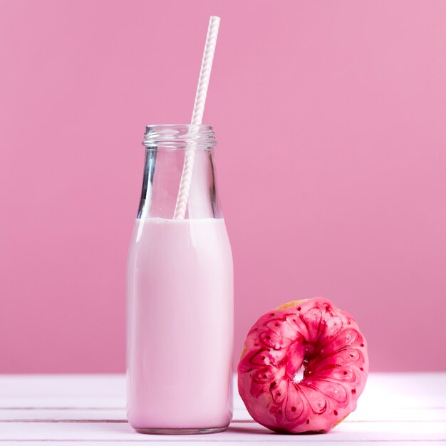
<svg viewBox="0 0 446 446"><path fill-rule="evenodd" d="M251 417L271 430L328 432L356 409L367 375L367 343L356 321L328 299L306 299L279 306L251 328L239 393Z"/></svg>

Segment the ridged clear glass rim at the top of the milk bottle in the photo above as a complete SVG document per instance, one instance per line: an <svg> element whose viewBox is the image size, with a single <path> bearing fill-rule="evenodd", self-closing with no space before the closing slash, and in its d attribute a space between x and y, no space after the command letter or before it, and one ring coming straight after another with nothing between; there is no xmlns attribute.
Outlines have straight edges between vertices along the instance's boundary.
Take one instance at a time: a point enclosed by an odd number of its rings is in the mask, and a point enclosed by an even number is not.
<svg viewBox="0 0 446 446"><path fill-rule="evenodd" d="M217 144L212 125L155 124L145 128L145 147L213 147Z"/></svg>

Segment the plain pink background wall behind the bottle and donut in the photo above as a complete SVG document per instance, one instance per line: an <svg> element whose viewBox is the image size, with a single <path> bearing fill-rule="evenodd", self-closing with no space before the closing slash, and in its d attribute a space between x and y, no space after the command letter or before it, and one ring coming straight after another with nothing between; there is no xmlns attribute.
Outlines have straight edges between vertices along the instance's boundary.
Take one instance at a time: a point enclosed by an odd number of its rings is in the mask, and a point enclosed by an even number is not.
<svg viewBox="0 0 446 446"><path fill-rule="evenodd" d="M0 371L123 371L148 123L204 113L251 323L326 296L446 370L445 1L0 1Z"/></svg>

